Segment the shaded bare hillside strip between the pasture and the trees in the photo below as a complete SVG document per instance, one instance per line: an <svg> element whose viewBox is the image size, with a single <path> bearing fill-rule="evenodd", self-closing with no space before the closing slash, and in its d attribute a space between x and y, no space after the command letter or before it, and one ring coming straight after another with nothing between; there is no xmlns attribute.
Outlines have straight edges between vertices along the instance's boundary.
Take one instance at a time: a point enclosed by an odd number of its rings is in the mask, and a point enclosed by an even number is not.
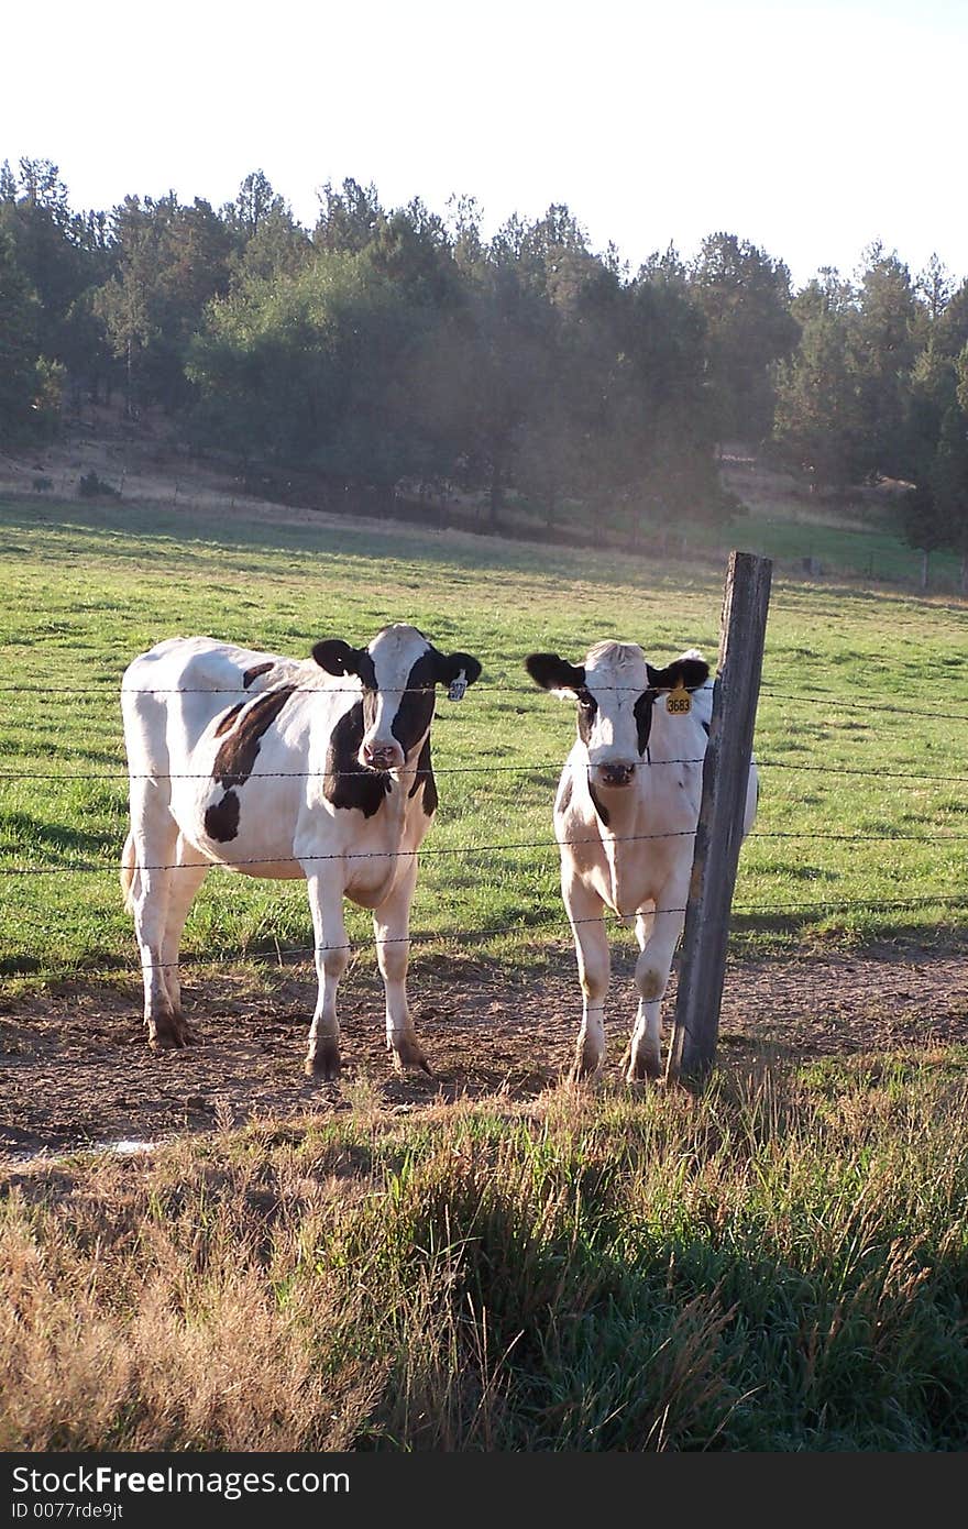
<svg viewBox="0 0 968 1529"><path fill-rule="evenodd" d="M258 465L245 469L223 454L190 451L179 443L161 410L145 410L133 424L119 407L86 405L61 439L44 450L0 453L0 494L70 500L81 479L95 474L104 492L122 503L158 505L191 515L199 509L232 515L242 511L266 521L306 523L324 515L339 523L378 520L396 528L466 532L474 540L529 541L534 546L615 546L648 560L697 560L722 564L729 547L772 557L777 572L809 581L849 578L861 584L924 587L922 553L898 531L898 497L905 485L885 480L832 502L814 495L789 474L765 466L743 446L723 453L723 488L743 506L722 526L589 526L580 505L566 502L554 526L511 495L494 535L483 495L448 491L399 492L391 500L349 489L321 474ZM953 553L930 560L928 587L963 593Z"/></svg>

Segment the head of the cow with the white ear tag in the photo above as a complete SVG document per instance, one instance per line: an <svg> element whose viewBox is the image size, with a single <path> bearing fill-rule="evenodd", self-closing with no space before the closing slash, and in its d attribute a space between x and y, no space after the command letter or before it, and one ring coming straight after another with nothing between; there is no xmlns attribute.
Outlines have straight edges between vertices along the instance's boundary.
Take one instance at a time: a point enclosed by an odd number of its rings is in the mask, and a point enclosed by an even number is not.
<svg viewBox="0 0 968 1529"><path fill-rule="evenodd" d="M378 771L401 769L422 745L437 685L460 676L473 685L480 674L469 653L440 653L422 631L402 622L384 627L365 648L329 638L317 642L312 656L327 674L356 674L362 683L359 763Z"/></svg>

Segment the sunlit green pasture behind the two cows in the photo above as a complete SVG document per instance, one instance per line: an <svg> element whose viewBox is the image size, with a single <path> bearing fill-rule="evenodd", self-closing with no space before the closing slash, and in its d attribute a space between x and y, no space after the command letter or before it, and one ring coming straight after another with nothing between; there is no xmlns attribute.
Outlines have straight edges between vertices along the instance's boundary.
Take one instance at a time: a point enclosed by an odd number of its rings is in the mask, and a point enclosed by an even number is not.
<svg viewBox="0 0 968 1529"><path fill-rule="evenodd" d="M573 717L531 685L523 656L578 657L610 635L659 662L691 644L714 662L722 604L722 575L688 563L128 506L0 505L0 962L12 980L132 966L118 687L161 638L205 631L304 654L317 638L362 642L407 619L477 653L479 685L437 708L440 810L414 959L534 963L567 936L549 841ZM737 950L963 933L963 604L777 579L755 748L762 804L740 859ZM369 934L356 910L350 934ZM301 884L216 873L185 956L277 960L309 943Z"/></svg>

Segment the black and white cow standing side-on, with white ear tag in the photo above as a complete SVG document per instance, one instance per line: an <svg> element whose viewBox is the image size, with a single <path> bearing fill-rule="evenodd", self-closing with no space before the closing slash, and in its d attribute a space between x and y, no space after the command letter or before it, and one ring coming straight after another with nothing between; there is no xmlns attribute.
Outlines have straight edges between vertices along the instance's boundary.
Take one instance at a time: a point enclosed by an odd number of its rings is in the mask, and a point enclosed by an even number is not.
<svg viewBox="0 0 968 1529"><path fill-rule="evenodd" d="M153 1047L184 1046L179 943L210 865L306 878L317 1009L306 1070L339 1073L336 986L349 962L343 899L373 910L396 1066L424 1067L407 1008L416 850L437 806L430 728L437 683L480 674L416 627L312 659L171 638L122 680L132 829L121 884L135 916Z"/></svg>

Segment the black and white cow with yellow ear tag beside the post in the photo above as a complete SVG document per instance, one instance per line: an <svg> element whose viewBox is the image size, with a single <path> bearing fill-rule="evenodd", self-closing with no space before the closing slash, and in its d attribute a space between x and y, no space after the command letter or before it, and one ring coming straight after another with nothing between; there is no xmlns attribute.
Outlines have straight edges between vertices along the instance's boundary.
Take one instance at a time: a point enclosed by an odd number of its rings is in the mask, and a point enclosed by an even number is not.
<svg viewBox="0 0 968 1529"><path fill-rule="evenodd" d="M604 1055L609 937L604 910L635 919L638 1018L629 1081L659 1073L659 1011L685 922L713 714L710 665L690 648L653 668L635 642L596 642L583 664L532 653L535 683L578 702L578 739L555 800L561 893L575 934L584 1011L572 1075ZM755 815L749 769L743 835Z"/></svg>

